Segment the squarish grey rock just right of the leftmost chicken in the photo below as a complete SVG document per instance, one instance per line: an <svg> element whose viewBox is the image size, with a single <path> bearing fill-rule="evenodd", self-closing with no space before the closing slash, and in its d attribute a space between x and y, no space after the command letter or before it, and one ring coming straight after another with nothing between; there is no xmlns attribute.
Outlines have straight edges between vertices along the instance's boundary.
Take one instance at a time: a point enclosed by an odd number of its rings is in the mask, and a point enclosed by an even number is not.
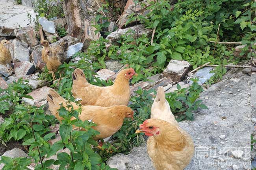
<svg viewBox="0 0 256 170"><path fill-rule="evenodd" d="M17 39L14 39L10 44L9 50L13 57L13 63L30 61L28 44L26 42L20 42Z"/></svg>

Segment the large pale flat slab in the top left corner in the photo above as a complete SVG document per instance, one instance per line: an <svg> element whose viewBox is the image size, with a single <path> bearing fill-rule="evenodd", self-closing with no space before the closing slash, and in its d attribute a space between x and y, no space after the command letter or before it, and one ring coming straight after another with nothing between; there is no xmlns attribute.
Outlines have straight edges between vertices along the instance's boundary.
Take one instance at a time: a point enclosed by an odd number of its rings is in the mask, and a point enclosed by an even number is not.
<svg viewBox="0 0 256 170"><path fill-rule="evenodd" d="M0 13L0 26L11 29L33 25L34 23L30 23L28 19L28 14L31 15L31 18L36 18L32 7L16 5L11 0L1 0Z"/></svg>

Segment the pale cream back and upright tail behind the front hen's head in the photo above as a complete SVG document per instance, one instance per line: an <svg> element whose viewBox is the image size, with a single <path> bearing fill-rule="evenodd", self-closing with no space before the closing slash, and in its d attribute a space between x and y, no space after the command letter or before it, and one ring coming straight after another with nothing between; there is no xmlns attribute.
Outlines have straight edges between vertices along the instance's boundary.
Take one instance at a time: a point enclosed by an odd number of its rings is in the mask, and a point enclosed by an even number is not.
<svg viewBox="0 0 256 170"><path fill-rule="evenodd" d="M178 126L178 122L171 111L170 105L165 99L165 91L161 86L158 87L156 98L152 104L150 118L158 118Z"/></svg>

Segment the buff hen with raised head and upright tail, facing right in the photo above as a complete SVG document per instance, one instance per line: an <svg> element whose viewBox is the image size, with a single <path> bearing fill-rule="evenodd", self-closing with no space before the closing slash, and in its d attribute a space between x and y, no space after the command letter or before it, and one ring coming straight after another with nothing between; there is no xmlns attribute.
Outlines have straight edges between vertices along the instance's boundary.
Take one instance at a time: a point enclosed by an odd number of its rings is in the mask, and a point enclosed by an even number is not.
<svg viewBox="0 0 256 170"><path fill-rule="evenodd" d="M129 80L137 76L134 69L124 69L117 75L113 85L98 87L91 85L85 79L85 74L76 68L72 74L72 94L74 98L82 98L82 105L98 105L108 107L112 105L128 105L130 100Z"/></svg>

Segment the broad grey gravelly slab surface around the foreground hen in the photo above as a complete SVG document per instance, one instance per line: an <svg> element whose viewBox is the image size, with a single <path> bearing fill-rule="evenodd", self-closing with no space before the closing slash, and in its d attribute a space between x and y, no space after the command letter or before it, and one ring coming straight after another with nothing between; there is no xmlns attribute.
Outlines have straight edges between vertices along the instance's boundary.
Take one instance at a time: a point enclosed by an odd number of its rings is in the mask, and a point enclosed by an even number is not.
<svg viewBox="0 0 256 170"><path fill-rule="evenodd" d="M233 69L223 80L200 94L199 100L209 109L194 112L194 121L179 122L195 142L195 155L185 170L232 170L232 166L250 170L250 76ZM254 86L255 87L255 86ZM254 88L255 89L255 88ZM232 91L230 94L228 91ZM219 136L225 135L225 139ZM154 170L146 145L134 148L128 155L115 155L108 164L119 170ZM143 149L144 148L144 149ZM239 158L230 153L243 151ZM241 158L242 157L242 158ZM139 161L139 163L137 163ZM221 168L220 168L221 167Z"/></svg>

